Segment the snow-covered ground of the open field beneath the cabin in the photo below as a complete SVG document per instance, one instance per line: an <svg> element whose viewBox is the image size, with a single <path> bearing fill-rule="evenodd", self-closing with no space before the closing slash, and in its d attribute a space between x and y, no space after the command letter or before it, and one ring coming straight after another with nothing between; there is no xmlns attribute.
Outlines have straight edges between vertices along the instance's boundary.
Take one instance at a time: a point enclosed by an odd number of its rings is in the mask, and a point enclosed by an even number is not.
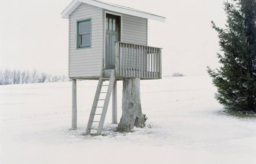
<svg viewBox="0 0 256 164"><path fill-rule="evenodd" d="M141 81L145 129L117 133L111 102L101 136L85 136L97 81L0 86L0 164L255 164L256 119L230 116L208 77ZM122 82L118 82L118 119Z"/></svg>

